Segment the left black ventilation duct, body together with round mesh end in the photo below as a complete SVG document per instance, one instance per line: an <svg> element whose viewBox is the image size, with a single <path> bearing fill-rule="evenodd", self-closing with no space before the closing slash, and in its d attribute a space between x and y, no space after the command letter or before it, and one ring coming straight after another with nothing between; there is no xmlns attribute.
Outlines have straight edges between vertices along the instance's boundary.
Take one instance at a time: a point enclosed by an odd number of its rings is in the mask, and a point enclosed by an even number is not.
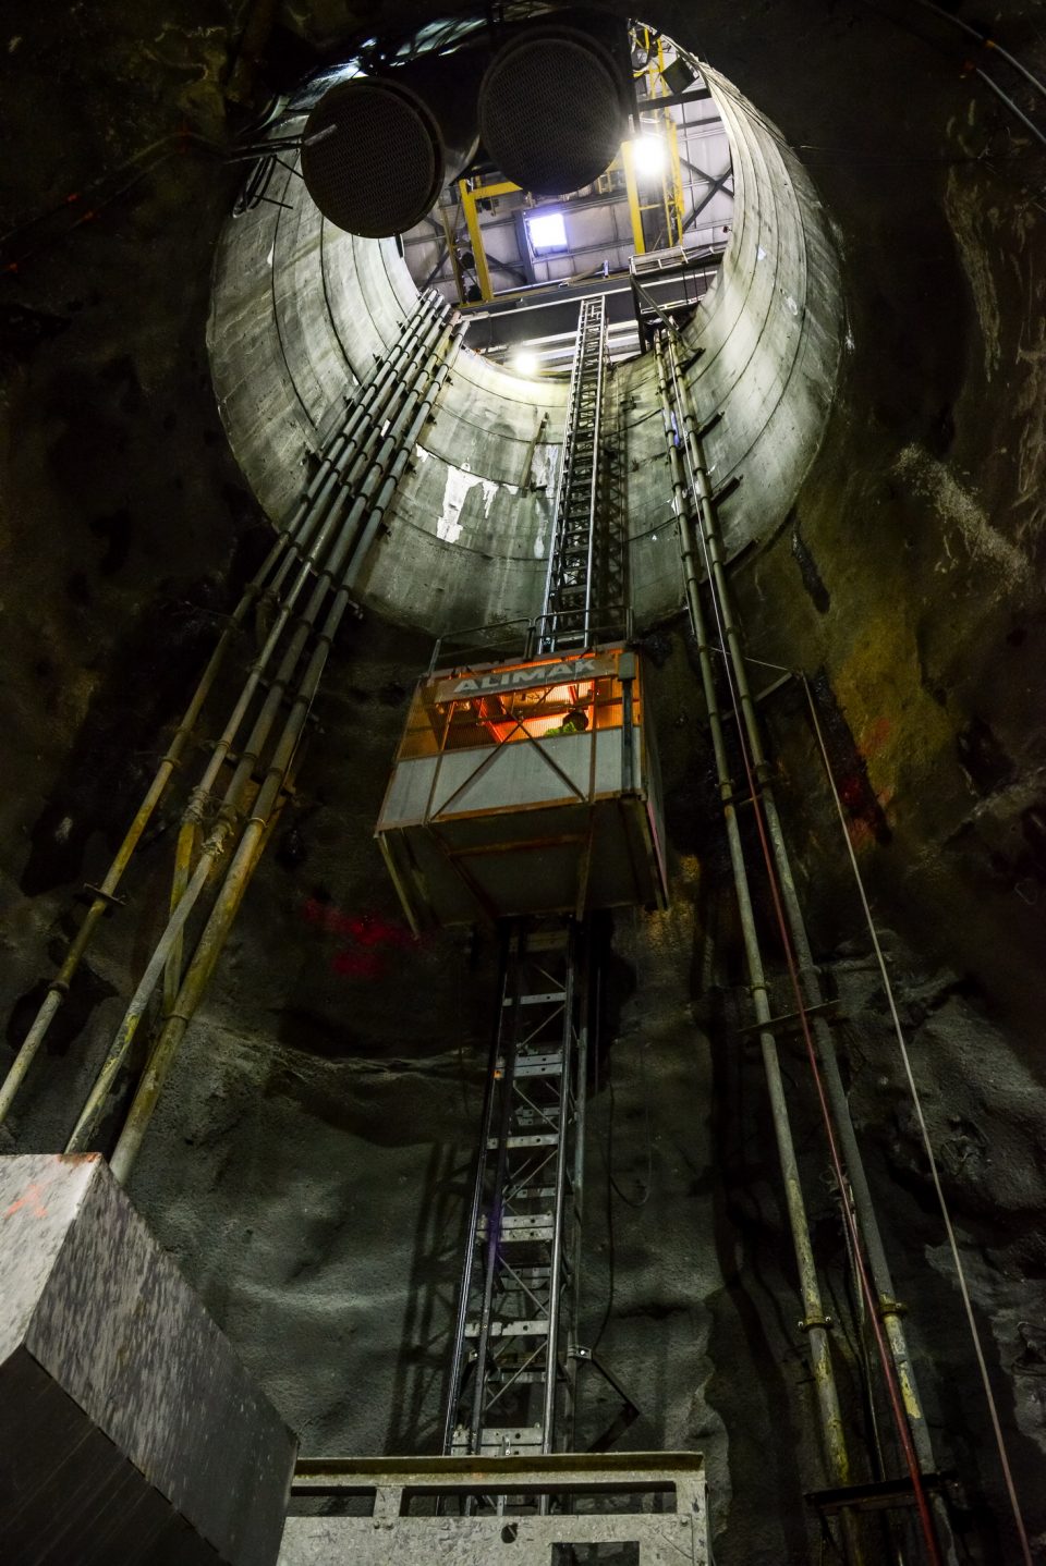
<svg viewBox="0 0 1046 1566"><path fill-rule="evenodd" d="M476 155L478 74L457 53L324 92L302 138L302 175L324 218L368 240L421 222Z"/></svg>

